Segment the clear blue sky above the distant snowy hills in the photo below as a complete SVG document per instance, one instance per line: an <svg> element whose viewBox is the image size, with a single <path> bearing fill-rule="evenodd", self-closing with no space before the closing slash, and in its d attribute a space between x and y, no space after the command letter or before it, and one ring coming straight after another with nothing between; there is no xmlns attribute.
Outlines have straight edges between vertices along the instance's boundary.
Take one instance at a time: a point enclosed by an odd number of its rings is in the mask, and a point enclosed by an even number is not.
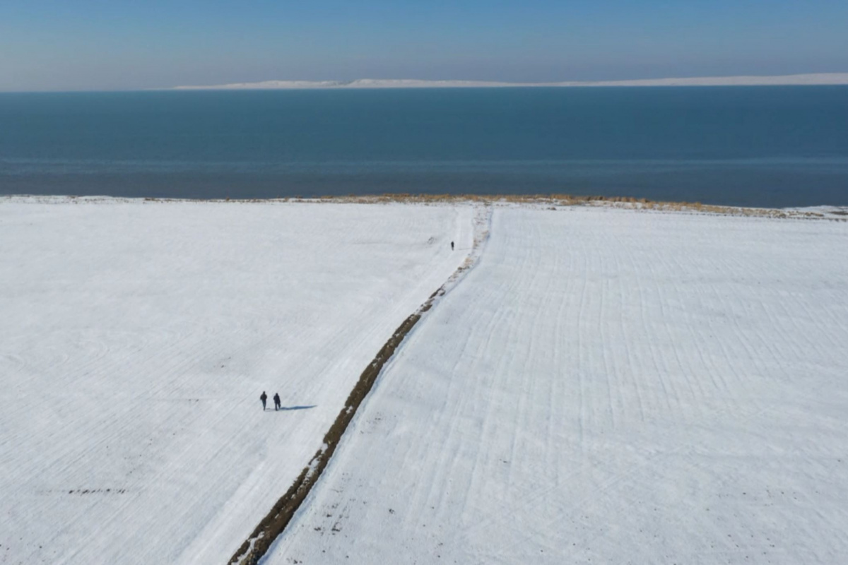
<svg viewBox="0 0 848 565"><path fill-rule="evenodd" d="M848 72L848 0L0 0L0 91Z"/></svg>

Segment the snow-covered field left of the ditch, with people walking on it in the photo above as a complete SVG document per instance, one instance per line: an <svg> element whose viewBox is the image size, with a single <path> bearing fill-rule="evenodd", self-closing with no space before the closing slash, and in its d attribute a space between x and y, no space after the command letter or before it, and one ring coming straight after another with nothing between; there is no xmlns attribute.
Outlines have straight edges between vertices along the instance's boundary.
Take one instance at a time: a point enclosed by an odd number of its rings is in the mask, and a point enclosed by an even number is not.
<svg viewBox="0 0 848 565"><path fill-rule="evenodd" d="M0 563L225 563L471 220L0 200Z"/></svg>

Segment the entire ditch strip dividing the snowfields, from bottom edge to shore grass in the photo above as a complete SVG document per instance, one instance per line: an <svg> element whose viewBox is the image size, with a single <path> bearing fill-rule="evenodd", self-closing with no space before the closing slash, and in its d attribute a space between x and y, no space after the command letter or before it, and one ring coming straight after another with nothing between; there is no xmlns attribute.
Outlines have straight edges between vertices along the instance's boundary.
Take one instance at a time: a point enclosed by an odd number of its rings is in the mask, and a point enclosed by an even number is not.
<svg viewBox="0 0 848 565"><path fill-rule="evenodd" d="M410 330L415 327L421 317L433 307L438 298L444 296L447 291L457 285L468 270L477 263L477 260L483 253L483 246L488 240L491 218L492 208L490 206L477 206L473 219L473 243L465 262L459 269L456 269L454 274L450 275L449 279L444 282L444 285L441 285L427 298L426 302L421 304L421 307L418 307L414 313L410 314L409 318L404 320L403 324L400 324L392 337L377 352L377 356L374 357L373 361L365 367L365 370L360 375L360 379L354 385L354 389L350 391L344 407L338 413L338 417L332 423L330 429L326 432L321 449L315 452L315 455L298 475L298 478L295 479L286 493L271 508L271 512L268 512L265 518L262 518L262 521L259 522L259 525L254 529L250 537L244 540L242 546L230 558L230 564L255 565L265 556L265 552L268 551L268 548L276 540L277 536L281 535L283 530L286 529L294 513L298 511L298 508L304 502L306 496L309 495L312 487L318 482L327 463L330 462L345 430L348 429L350 422L354 419L357 409L377 382L377 377L380 376L383 366L393 356L398 346L404 341L406 335L410 333Z"/></svg>

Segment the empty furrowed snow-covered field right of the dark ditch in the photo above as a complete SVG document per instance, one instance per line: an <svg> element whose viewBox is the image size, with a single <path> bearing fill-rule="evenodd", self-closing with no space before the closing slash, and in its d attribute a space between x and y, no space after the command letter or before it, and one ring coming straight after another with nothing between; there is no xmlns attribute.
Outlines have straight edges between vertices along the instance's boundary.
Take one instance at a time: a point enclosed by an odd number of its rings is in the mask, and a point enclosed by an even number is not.
<svg viewBox="0 0 848 565"><path fill-rule="evenodd" d="M848 224L498 209L266 564L848 562Z"/></svg>

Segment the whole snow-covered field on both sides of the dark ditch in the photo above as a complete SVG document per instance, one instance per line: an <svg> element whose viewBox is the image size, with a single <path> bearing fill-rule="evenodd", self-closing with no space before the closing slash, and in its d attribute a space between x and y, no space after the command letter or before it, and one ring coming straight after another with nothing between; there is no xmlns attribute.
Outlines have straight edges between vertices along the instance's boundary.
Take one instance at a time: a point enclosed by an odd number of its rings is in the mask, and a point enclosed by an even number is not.
<svg viewBox="0 0 848 565"><path fill-rule="evenodd" d="M480 219L74 202L0 200L0 563L226 562ZM846 249L496 209L264 562L848 562Z"/></svg>

